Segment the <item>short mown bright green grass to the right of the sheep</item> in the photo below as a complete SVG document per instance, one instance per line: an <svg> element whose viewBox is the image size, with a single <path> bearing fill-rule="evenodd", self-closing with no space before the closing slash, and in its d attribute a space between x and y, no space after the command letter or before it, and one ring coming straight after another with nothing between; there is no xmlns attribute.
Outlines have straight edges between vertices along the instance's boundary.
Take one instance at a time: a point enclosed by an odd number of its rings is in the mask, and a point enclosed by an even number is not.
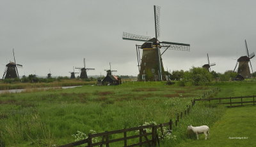
<svg viewBox="0 0 256 147"><path fill-rule="evenodd" d="M210 127L210 139L204 140L204 134L199 140L189 139L182 146L255 146L256 107L229 108L218 122ZM248 137L248 139L229 139L229 137Z"/></svg>

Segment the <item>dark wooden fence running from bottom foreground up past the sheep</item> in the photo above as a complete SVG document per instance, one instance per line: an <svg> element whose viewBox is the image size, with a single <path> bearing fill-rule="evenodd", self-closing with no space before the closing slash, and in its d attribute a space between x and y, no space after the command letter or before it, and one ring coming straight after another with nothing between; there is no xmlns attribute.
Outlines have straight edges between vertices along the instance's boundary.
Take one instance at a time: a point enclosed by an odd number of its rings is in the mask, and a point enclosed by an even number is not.
<svg viewBox="0 0 256 147"><path fill-rule="evenodd" d="M193 101L191 101L191 106L187 105L185 111L182 111L180 113L177 113L177 118L175 120L175 127L177 127L180 119L184 118L184 116L188 115L189 112L191 111L191 108L195 105L195 99ZM140 127L132 127L129 129L121 129L121 130L113 130L113 131L106 131L106 132L100 132L100 133L96 133L96 134L89 134L88 138L83 139L81 141L76 141L74 143L69 143L69 144L65 144L59 147L73 147L73 146L79 146L81 144L85 145L87 144L87 147L93 147L93 146L100 146L102 147L103 145L105 145L106 147L109 147L110 143L115 143L115 142L119 142L119 141L123 141L124 143L124 147L132 147L132 146L142 146L143 144L147 144L147 146L157 146L157 144L159 145L159 136L157 134L157 129L160 129L160 138L163 139L164 137L164 131L163 131L163 127L167 126L168 127L168 131L172 132L172 129L174 127L174 124L172 122L172 120L170 120L170 122L166 122L166 123L160 123L158 125L143 125ZM151 132L146 132L145 129L150 129ZM131 131L138 131L139 134L137 135L133 135L133 136L128 136L127 132L131 132ZM123 134L122 137L119 138L115 138L112 139L111 136L115 135L115 134ZM101 141L97 142L97 143L93 143L93 138L95 137L100 137ZM138 143L134 143L134 144L127 144L127 140L128 139L136 139L138 138Z"/></svg>

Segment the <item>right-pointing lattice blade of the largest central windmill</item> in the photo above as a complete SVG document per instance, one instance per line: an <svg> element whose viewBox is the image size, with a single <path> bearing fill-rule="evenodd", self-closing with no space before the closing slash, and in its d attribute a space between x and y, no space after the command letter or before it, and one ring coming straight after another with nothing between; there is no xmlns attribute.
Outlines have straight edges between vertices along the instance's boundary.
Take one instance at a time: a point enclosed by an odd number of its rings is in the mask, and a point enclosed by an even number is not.
<svg viewBox="0 0 256 147"><path fill-rule="evenodd" d="M168 48L168 50L181 50L181 51L190 51L190 45L184 43L172 43L167 41L162 41L161 47Z"/></svg>

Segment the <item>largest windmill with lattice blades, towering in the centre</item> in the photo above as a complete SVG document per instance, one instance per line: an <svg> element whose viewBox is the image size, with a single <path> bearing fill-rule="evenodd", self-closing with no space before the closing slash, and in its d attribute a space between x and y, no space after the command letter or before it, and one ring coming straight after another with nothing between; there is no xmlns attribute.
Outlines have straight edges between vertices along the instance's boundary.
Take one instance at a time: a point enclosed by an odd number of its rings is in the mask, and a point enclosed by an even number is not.
<svg viewBox="0 0 256 147"><path fill-rule="evenodd" d="M154 81L155 79L162 81L162 73L164 71L163 62L161 55L169 50L182 50L189 51L190 45L184 43L173 43L168 41L159 41L160 36L160 7L154 6L154 19L155 19L155 38L149 36L140 36L135 34L130 34L123 32L123 39L133 40L133 41L143 41L143 45L136 45L136 53L138 60L138 68L140 74L138 75L138 80L141 81L143 78L147 80ZM160 48L164 48L164 52L160 52ZM142 58L140 59L140 50L143 50ZM140 62L141 61L141 62Z"/></svg>

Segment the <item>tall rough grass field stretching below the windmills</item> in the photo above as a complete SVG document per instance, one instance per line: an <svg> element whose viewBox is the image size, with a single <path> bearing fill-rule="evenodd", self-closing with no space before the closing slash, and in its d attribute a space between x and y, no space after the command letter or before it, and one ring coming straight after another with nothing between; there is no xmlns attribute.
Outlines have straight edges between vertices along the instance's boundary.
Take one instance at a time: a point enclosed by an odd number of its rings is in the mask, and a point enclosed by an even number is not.
<svg viewBox="0 0 256 147"><path fill-rule="evenodd" d="M77 130L88 134L137 127L145 122L174 120L191 99L221 87L213 97L255 94L254 83L214 83L209 87L175 87L161 82L127 82L116 87L84 85L0 95L0 144L5 146L54 146L71 143ZM161 146L193 141L188 125L209 125L221 119L227 108L196 102L191 113L173 128L175 140ZM200 118L200 119L198 119ZM212 130L213 131L213 130ZM116 144L115 146L120 146Z"/></svg>

